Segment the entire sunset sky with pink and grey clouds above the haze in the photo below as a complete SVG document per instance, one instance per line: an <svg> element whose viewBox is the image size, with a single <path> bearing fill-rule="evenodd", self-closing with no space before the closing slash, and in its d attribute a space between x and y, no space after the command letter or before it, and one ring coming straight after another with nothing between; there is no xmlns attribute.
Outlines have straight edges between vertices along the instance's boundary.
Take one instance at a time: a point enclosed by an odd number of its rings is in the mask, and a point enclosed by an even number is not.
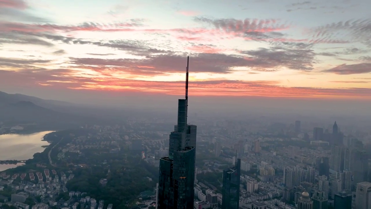
<svg viewBox="0 0 371 209"><path fill-rule="evenodd" d="M370 7L0 0L0 91L60 100L182 95L189 56L190 96L370 100Z"/></svg>

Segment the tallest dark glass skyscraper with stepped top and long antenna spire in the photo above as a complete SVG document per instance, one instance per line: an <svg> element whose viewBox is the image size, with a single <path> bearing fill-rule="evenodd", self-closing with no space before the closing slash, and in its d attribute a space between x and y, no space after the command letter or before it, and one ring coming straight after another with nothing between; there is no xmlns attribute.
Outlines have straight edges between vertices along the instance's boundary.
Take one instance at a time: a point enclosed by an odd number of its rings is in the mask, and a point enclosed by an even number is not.
<svg viewBox="0 0 371 209"><path fill-rule="evenodd" d="M178 100L178 124L169 138L169 157L160 158L158 209L192 209L196 160L196 131L187 125L188 61L185 99ZM193 146L191 146L193 145Z"/></svg>

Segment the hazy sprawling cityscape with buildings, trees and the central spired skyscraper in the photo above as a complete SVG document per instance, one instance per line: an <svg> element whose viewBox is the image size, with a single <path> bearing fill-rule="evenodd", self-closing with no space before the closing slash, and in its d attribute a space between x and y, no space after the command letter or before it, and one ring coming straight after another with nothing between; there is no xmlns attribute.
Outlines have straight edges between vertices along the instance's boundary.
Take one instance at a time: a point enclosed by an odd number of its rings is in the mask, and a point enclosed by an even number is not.
<svg viewBox="0 0 371 209"><path fill-rule="evenodd" d="M300 120L267 125L264 119L210 121L195 115L197 127L187 118L188 67L185 99L178 100L177 125L169 138L156 131L164 123L157 118L46 134L51 145L44 152L0 173L0 207L371 206L370 144L359 139L367 139L367 132L344 133L336 121L330 130L313 127L311 132L310 123L302 127ZM21 130L20 125L1 127L3 132Z"/></svg>

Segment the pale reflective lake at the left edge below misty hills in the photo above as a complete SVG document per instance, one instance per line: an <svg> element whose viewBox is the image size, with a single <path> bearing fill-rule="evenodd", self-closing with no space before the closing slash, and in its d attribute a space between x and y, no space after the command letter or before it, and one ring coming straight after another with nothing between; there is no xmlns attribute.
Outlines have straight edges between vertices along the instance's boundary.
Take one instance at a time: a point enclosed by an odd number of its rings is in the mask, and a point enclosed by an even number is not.
<svg viewBox="0 0 371 209"><path fill-rule="evenodd" d="M37 152L44 151L49 142L42 141L45 134L53 131L43 131L33 134L4 134L0 135L0 160L28 160ZM15 168L23 163L0 165L0 171Z"/></svg>

